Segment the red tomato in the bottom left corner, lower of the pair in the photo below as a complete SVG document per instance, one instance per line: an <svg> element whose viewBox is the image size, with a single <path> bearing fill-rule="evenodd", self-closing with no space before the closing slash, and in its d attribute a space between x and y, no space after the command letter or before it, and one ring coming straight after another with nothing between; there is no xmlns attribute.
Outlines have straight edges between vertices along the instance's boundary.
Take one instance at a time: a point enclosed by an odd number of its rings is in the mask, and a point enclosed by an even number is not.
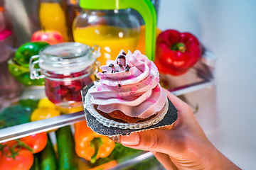
<svg viewBox="0 0 256 170"><path fill-rule="evenodd" d="M11 157L11 152L7 147L4 147L0 152L0 169L1 170L28 170L33 164L33 153L28 149L16 147L14 152L18 152L16 157Z"/></svg>

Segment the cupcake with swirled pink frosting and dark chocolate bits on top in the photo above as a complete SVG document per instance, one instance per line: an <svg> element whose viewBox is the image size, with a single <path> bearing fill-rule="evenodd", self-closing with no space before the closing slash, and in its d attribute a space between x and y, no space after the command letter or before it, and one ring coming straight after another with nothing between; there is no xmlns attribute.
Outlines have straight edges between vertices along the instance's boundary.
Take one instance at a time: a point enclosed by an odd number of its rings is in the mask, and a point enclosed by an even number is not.
<svg viewBox="0 0 256 170"><path fill-rule="evenodd" d="M107 60L85 95L85 108L102 125L140 129L159 123L169 102L159 84L154 62L139 50L121 50L116 60Z"/></svg>

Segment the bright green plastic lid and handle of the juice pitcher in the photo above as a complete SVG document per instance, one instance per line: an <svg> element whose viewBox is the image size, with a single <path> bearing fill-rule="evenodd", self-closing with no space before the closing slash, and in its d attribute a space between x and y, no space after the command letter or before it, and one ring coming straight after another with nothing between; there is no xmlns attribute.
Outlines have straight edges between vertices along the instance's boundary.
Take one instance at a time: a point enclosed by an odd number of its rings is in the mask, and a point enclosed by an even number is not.
<svg viewBox="0 0 256 170"><path fill-rule="evenodd" d="M144 19L146 26L146 56L154 61L156 50L156 10L150 0L80 0L80 7L90 10L133 8Z"/></svg>

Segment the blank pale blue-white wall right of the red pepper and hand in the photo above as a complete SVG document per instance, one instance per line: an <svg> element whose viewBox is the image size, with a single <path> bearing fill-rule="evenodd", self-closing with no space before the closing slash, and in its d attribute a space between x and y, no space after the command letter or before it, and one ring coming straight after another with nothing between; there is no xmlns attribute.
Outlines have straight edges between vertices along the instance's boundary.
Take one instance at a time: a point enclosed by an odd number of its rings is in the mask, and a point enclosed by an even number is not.
<svg viewBox="0 0 256 170"><path fill-rule="evenodd" d="M256 169L256 1L161 0L157 26L191 32L218 56L215 87L188 94L206 135L242 169Z"/></svg>

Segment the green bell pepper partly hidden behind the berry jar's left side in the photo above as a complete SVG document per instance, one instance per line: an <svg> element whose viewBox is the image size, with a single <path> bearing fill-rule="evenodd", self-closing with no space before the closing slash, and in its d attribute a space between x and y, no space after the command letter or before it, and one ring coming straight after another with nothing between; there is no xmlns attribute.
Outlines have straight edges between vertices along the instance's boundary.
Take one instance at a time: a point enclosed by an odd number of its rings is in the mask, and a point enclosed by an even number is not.
<svg viewBox="0 0 256 170"><path fill-rule="evenodd" d="M30 79L29 60L33 55L38 55L39 51L49 45L47 42L27 42L15 53L14 59L9 60L9 72L23 85L44 85L44 79Z"/></svg>

